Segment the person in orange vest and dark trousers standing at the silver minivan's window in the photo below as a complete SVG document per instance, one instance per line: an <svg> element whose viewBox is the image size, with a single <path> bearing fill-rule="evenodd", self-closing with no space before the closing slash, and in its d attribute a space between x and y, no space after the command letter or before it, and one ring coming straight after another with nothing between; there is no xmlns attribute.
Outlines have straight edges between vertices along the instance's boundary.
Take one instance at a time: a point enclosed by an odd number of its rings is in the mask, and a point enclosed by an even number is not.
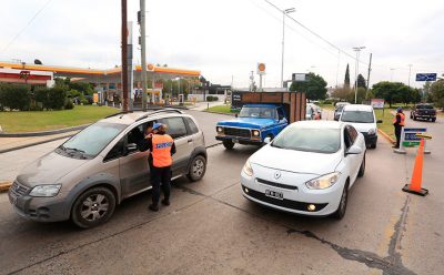
<svg viewBox="0 0 444 275"><path fill-rule="evenodd" d="M148 138L148 147L151 151L149 157L152 160L151 184L152 184L152 204L151 211L159 211L160 189L163 191L162 204L170 205L170 182L172 155L175 153L174 140L167 134L167 126L161 123L153 125L153 134ZM150 161L151 161L150 160Z"/></svg>

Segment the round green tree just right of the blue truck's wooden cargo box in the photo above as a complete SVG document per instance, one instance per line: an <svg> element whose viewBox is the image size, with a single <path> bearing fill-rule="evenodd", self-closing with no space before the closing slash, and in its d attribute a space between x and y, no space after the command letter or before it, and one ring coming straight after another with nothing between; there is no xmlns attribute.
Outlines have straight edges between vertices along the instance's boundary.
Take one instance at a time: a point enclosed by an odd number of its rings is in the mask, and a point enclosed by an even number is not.
<svg viewBox="0 0 444 275"><path fill-rule="evenodd" d="M293 81L290 91L305 92L309 100L323 100L326 96L326 81L321 75L310 72L305 81Z"/></svg>

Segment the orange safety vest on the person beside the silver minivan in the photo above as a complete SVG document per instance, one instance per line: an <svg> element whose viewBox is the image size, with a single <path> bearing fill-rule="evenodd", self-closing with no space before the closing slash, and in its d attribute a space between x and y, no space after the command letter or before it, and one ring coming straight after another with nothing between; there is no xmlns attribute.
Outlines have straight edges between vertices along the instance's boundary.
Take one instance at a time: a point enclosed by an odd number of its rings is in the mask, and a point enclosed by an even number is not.
<svg viewBox="0 0 444 275"><path fill-rule="evenodd" d="M173 142L174 140L168 134L153 134L151 155L154 167L167 167L173 163L171 157Z"/></svg>

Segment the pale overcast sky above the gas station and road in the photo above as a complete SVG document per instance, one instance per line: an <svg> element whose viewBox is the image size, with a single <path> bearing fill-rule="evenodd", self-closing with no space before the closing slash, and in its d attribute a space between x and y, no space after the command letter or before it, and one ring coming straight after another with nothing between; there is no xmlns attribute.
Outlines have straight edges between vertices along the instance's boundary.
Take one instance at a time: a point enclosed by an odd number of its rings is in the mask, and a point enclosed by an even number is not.
<svg viewBox="0 0 444 275"><path fill-rule="evenodd" d="M270 0L324 39L355 55L371 84L408 81L416 72L444 73L444 1L442 0ZM0 60L108 69L120 65L119 0L0 0ZM139 34L139 0L128 0L129 20ZM41 12L39 12L41 10ZM264 86L281 79L282 12L264 0L147 0L148 62L200 70L212 83L248 86L250 71L266 64ZM32 18L37 17L32 20ZM329 86L343 84L355 61L290 19L285 20L284 79L313 71ZM137 37L134 35L134 42ZM135 48L134 63L140 63ZM339 68L339 70L337 70ZM256 82L259 78L256 77Z"/></svg>

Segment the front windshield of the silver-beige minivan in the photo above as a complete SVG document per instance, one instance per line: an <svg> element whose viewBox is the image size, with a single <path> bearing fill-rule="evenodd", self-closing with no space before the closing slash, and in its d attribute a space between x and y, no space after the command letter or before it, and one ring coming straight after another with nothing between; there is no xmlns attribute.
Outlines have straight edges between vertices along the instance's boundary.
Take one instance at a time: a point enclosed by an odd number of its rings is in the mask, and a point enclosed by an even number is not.
<svg viewBox="0 0 444 275"><path fill-rule="evenodd" d="M72 136L58 150L69 156L92 159L98 155L127 125L118 123L98 122Z"/></svg>

